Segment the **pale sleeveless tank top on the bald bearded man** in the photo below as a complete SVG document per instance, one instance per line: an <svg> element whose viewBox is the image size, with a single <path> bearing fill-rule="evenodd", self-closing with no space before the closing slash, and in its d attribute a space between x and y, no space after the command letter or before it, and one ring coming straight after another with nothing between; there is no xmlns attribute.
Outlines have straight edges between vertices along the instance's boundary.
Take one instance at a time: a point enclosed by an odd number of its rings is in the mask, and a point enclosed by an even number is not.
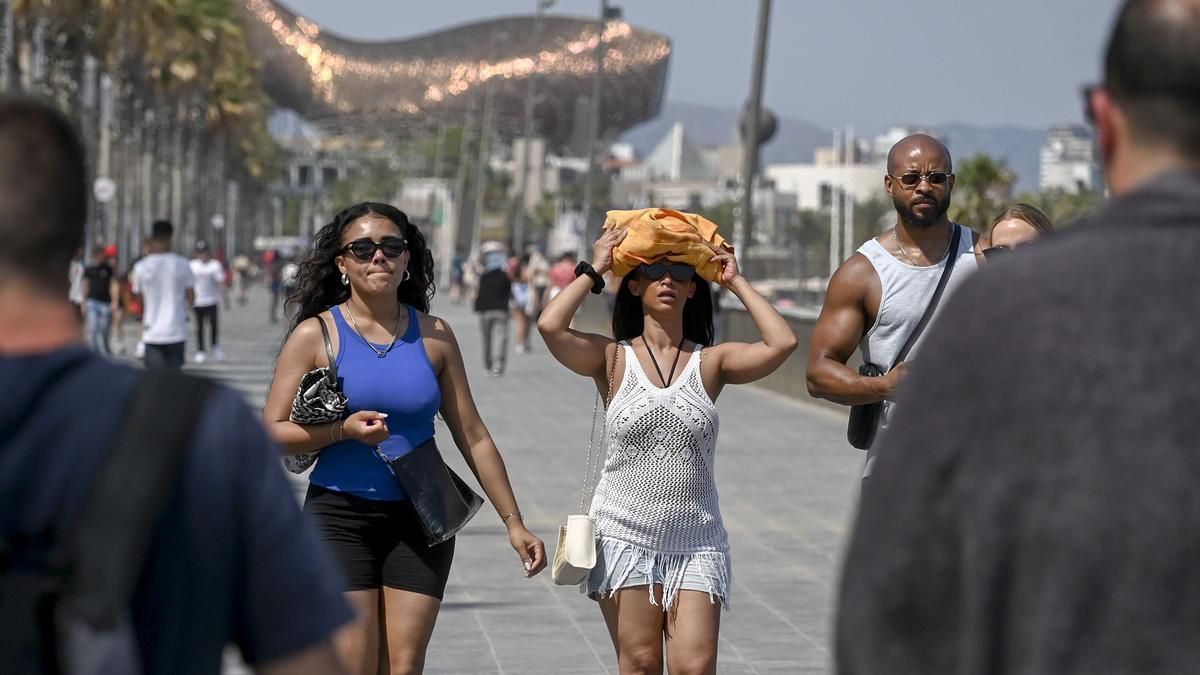
<svg viewBox="0 0 1200 675"><path fill-rule="evenodd" d="M958 223L955 227L961 232L959 250L955 253L958 261L950 271L950 279L946 282L946 291L942 292L942 299L937 303L937 310L934 311L935 319L954 289L979 269L971 229ZM949 259L949 256L943 257L935 265L916 267L893 256L883 247L883 244L874 238L859 246L858 252L871 262L875 273L880 275L880 285L883 288L880 294L880 311L875 317L875 325L866 331L858 347L864 362L874 363L886 371L892 368L892 362L900 353L900 347L908 340L908 335L917 328L922 315L925 313L925 307L929 306L929 300L934 297L934 291L937 288L937 282L942 277L942 270L946 269L946 261ZM917 344L908 351L906 360L911 362L916 357L928 334L929 327L926 325L925 331L917 339ZM890 413L892 401L883 401L880 435L887 430ZM875 444L878 446L878 442ZM869 452L864 476L870 476L874 459L874 450Z"/></svg>

